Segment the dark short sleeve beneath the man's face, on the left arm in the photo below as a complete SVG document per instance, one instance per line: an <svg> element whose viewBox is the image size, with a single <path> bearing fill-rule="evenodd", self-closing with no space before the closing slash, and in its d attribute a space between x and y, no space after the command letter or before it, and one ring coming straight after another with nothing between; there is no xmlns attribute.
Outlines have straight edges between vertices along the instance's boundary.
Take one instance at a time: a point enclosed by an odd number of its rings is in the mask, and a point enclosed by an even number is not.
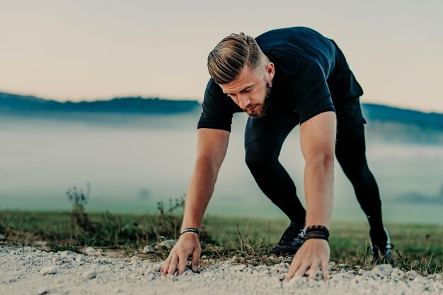
<svg viewBox="0 0 443 295"><path fill-rule="evenodd" d="M210 79L206 86L197 129L211 128L231 132L232 116L234 112L240 111L241 108L223 93L217 83Z"/></svg>

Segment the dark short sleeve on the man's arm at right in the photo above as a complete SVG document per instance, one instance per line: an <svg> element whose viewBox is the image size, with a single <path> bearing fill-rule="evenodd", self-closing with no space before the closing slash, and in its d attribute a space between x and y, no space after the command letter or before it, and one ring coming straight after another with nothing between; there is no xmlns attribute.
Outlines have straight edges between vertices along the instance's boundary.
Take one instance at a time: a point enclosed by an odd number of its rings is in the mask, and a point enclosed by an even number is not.
<svg viewBox="0 0 443 295"><path fill-rule="evenodd" d="M326 76L320 64L306 62L295 79L297 83L294 83L296 86L293 91L300 124L321 112L335 112Z"/></svg>

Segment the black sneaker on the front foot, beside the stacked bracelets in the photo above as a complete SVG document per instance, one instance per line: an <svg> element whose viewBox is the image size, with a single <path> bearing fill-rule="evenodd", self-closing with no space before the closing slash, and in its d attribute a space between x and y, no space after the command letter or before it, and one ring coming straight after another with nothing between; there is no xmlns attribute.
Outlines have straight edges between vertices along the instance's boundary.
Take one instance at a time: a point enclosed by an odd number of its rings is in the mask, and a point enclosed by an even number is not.
<svg viewBox="0 0 443 295"><path fill-rule="evenodd" d="M294 255L304 243L304 226L299 226L294 222L284 231L280 242L271 250L271 254L277 256Z"/></svg>

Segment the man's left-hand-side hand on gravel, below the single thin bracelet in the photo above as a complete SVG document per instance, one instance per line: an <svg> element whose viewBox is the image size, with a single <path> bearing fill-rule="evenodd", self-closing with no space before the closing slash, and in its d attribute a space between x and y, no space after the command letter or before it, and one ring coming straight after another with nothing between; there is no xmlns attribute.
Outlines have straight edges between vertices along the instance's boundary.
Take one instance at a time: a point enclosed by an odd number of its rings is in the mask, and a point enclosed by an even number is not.
<svg viewBox="0 0 443 295"><path fill-rule="evenodd" d="M174 274L177 267L178 275L183 274L190 255L192 255L192 271L196 272L198 270L198 265L200 264L201 252L202 249L200 248L198 236L195 233L183 233L183 235L178 238L178 241L172 248L171 253L169 253L168 258L166 258L163 267L161 267L161 274Z"/></svg>

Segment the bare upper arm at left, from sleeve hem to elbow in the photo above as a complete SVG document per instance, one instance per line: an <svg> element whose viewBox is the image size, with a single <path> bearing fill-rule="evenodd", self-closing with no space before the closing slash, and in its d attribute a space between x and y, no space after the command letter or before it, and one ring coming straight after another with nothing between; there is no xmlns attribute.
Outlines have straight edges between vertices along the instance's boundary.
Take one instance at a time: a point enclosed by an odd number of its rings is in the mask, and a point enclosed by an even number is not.
<svg viewBox="0 0 443 295"><path fill-rule="evenodd" d="M226 156L229 132L222 129L200 128L197 130L197 158L209 158L221 166Z"/></svg>

